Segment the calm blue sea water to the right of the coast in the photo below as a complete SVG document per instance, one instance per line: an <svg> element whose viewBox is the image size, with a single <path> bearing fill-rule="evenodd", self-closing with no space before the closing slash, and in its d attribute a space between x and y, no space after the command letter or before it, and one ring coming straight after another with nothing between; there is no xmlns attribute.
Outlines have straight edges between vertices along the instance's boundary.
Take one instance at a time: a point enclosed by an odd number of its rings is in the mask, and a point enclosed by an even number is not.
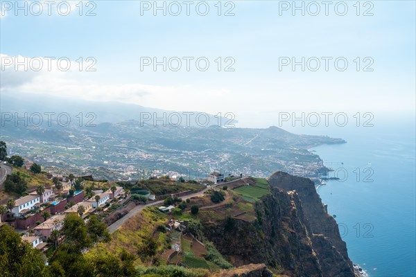
<svg viewBox="0 0 416 277"><path fill-rule="evenodd" d="M336 215L349 257L371 277L416 276L415 123L327 134L347 143L313 150L342 180L318 193Z"/></svg>

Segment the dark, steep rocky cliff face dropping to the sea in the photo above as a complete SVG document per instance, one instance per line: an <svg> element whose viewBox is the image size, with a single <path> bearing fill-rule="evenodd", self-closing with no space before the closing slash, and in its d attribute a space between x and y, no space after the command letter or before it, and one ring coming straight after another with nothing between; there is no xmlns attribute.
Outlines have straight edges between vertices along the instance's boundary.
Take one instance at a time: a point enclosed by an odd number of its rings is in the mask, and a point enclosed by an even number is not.
<svg viewBox="0 0 416 277"><path fill-rule="evenodd" d="M205 222L205 235L236 266L265 263L288 276L354 276L338 226L312 181L276 172L257 220Z"/></svg>

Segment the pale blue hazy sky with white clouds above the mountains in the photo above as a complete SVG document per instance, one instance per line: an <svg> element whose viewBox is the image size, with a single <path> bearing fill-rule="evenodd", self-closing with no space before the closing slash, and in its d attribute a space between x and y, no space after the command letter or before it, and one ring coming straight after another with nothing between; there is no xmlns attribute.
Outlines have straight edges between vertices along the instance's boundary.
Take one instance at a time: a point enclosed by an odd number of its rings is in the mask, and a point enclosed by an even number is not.
<svg viewBox="0 0 416 277"><path fill-rule="evenodd" d="M415 1L54 1L50 15L47 1L0 2L1 94L232 113L241 127L415 115Z"/></svg>

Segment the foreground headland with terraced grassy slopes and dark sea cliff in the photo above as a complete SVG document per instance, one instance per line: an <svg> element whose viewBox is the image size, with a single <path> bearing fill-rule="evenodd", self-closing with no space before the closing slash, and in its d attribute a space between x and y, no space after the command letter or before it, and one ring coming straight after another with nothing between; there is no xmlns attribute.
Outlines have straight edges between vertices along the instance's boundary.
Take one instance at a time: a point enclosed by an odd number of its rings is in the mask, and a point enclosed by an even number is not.
<svg viewBox="0 0 416 277"><path fill-rule="evenodd" d="M171 214L144 209L88 255L125 249L144 273L174 265L198 276L354 276L336 221L309 179L277 172L227 185Z"/></svg>

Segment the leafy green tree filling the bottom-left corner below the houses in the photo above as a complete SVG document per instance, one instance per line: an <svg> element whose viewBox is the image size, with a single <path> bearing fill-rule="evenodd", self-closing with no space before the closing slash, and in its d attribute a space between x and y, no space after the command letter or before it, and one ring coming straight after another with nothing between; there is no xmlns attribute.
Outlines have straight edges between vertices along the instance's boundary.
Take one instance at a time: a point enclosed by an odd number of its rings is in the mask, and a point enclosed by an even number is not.
<svg viewBox="0 0 416 277"><path fill-rule="evenodd" d="M0 276L51 276L40 251L23 242L12 227L0 226L0 238Z"/></svg>

